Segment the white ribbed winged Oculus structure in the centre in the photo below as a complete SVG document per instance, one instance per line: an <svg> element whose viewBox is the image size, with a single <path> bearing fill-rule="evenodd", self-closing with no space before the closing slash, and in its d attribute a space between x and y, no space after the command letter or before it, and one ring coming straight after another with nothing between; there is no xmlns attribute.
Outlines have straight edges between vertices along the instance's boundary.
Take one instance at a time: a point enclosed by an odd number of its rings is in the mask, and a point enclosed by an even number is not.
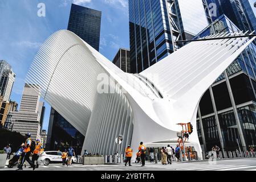
<svg viewBox="0 0 256 182"><path fill-rule="evenodd" d="M233 35L245 34L207 38ZM44 100L86 136L83 150L114 154L115 138L121 134L121 154L128 144L135 153L141 141L177 139L177 123L196 126L200 98L254 39L191 42L133 75L74 33L60 30L39 49L26 82L40 85ZM196 129L189 140L197 143L201 158Z"/></svg>

